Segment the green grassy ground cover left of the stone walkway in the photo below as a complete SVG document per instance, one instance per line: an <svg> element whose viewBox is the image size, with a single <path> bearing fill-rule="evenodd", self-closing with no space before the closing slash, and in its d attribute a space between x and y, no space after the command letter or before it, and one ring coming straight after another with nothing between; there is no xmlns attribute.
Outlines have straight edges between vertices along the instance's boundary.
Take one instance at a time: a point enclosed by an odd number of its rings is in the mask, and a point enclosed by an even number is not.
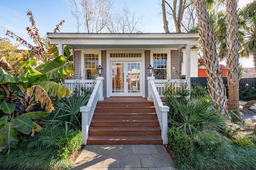
<svg viewBox="0 0 256 170"><path fill-rule="evenodd" d="M45 129L20 142L10 153L0 153L0 169L60 170L74 166L73 154L82 145L82 133Z"/></svg>

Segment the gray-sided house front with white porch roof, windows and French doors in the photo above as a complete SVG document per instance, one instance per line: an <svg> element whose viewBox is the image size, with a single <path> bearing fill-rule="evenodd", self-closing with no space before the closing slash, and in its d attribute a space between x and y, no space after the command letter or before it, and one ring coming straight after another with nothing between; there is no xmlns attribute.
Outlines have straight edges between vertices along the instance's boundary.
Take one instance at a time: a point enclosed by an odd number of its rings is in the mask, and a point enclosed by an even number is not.
<svg viewBox="0 0 256 170"><path fill-rule="evenodd" d="M179 79L172 67L179 70L179 49L184 46L184 60L189 64L183 68L183 74L189 81L190 47L197 45L199 39L198 33L47 33L47 36L51 44L59 45L59 54L63 54L63 45L74 50L76 71L73 79L94 79L96 68L102 66L103 96L106 98L147 97L146 79L150 64L154 67L156 80L165 80L168 75L171 79ZM133 73L131 77L130 72L135 70L136 75Z"/></svg>

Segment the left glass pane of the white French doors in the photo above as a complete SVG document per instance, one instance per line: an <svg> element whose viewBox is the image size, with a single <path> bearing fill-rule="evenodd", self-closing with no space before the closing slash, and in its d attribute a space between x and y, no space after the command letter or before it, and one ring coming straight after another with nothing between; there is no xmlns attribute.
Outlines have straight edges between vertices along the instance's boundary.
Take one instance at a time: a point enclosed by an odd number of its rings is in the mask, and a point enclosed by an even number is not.
<svg viewBox="0 0 256 170"><path fill-rule="evenodd" d="M124 63L112 63L112 92L124 93Z"/></svg>

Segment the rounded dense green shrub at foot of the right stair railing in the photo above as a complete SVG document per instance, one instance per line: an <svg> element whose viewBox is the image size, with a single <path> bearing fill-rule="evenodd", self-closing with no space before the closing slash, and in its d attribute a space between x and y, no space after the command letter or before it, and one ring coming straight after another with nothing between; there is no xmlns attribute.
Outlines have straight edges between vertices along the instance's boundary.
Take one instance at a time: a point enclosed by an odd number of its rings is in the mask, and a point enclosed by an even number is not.
<svg viewBox="0 0 256 170"><path fill-rule="evenodd" d="M190 162L193 159L194 145L188 135L174 127L168 128L168 145L174 152L174 165L179 169L191 169Z"/></svg>

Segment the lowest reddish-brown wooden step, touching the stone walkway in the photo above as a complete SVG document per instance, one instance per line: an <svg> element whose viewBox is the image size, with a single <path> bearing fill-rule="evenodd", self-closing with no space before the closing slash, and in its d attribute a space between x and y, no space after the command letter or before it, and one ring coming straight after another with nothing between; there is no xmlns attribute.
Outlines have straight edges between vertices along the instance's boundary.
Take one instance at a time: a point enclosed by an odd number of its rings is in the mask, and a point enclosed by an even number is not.
<svg viewBox="0 0 256 170"><path fill-rule="evenodd" d="M162 145L161 136L89 136L87 145Z"/></svg>

